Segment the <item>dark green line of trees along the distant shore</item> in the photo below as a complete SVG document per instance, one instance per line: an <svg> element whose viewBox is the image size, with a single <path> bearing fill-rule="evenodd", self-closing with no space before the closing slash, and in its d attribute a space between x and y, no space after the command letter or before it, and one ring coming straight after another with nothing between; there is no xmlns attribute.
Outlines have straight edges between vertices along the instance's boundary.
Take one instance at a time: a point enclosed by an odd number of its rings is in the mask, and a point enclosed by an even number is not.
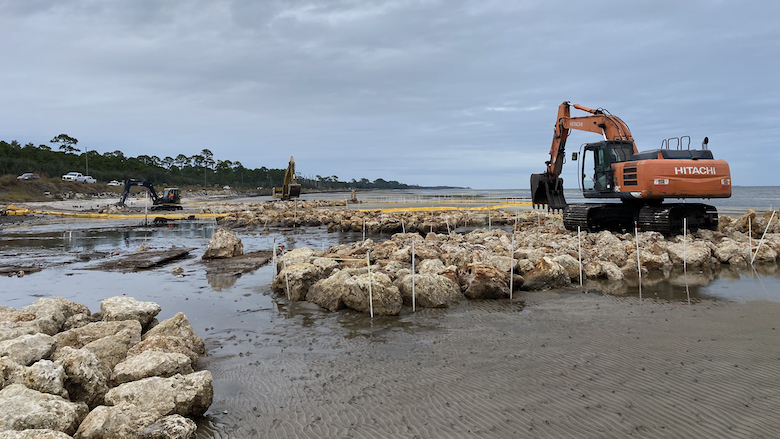
<svg viewBox="0 0 780 439"><path fill-rule="evenodd" d="M214 154L204 149L200 154L176 157L157 157L139 155L128 157L116 150L100 154L97 151L82 152L77 148L78 139L60 134L49 142L54 147L32 142L25 145L13 140L10 143L0 140L0 174L22 174L35 172L42 177L59 177L68 172L82 172L91 175L98 182L135 178L149 181L155 185L167 186L204 186L266 190L284 183L286 168L246 168L240 161L215 159ZM397 181L378 178L369 181L340 181L337 176L303 177L296 180L306 189L403 189L410 186Z"/></svg>

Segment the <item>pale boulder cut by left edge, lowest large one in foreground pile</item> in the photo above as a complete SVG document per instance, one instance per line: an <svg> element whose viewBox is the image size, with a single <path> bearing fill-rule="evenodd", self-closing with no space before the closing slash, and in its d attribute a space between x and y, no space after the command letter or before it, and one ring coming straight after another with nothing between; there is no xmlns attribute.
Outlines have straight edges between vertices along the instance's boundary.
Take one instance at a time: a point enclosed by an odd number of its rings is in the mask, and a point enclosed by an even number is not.
<svg viewBox="0 0 780 439"><path fill-rule="evenodd" d="M87 405L12 384L0 390L0 431L49 429L72 435Z"/></svg>

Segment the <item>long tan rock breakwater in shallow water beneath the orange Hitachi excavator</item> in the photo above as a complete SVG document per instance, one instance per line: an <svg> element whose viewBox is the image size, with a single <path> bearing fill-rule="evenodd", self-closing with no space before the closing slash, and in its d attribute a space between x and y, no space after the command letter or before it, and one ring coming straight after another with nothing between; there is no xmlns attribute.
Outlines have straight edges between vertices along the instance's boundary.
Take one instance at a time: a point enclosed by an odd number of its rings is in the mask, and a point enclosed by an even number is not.
<svg viewBox="0 0 780 439"><path fill-rule="evenodd" d="M766 220L762 224L757 219L753 230L766 228ZM749 236L741 231L743 222L723 217L720 231L701 230L689 234L685 242L682 236L640 232L643 276L668 279L684 260L688 270L700 272L722 266L747 267L753 258L759 264L776 265L780 234L768 233L761 245L752 241L751 250ZM413 269L414 295L422 307L447 307L463 299L508 298L510 276L514 288L531 291L578 283L580 271L584 280L611 285L637 277L633 234L583 232L578 237L563 228L560 216L546 217L537 226L534 213L523 214L518 224L511 250L509 232L485 229L468 234L428 233L425 238L419 233L397 233L381 243L368 239L324 252L295 249L278 259L279 274L273 287L290 300L306 300L331 311L346 307L368 312L373 300L375 314L395 315L403 304L411 304Z"/></svg>

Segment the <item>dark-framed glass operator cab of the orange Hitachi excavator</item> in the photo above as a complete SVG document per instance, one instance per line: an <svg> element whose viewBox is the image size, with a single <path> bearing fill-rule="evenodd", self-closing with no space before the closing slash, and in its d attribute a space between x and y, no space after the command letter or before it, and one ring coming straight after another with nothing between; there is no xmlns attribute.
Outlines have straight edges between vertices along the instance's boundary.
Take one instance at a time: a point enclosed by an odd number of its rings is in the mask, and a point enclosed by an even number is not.
<svg viewBox="0 0 780 439"><path fill-rule="evenodd" d="M615 191L613 163L625 162L634 153L634 144L625 140L605 140L582 147L580 189L585 198L620 198Z"/></svg>

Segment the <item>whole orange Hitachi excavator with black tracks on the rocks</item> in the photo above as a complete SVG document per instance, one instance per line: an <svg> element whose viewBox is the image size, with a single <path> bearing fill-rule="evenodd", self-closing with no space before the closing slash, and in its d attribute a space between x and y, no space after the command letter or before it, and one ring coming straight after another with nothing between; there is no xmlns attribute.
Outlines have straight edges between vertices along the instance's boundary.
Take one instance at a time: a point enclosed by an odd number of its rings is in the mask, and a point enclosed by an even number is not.
<svg viewBox="0 0 780 439"><path fill-rule="evenodd" d="M715 230L718 212L702 203L663 203L666 198L728 198L731 173L724 160L715 160L704 138L701 149L690 148L690 137L672 137L661 148L639 152L631 131L619 117L607 110L572 117L569 102L558 107L547 171L531 174L534 207L563 211L568 230L633 230L675 234L686 224L691 230ZM579 187L584 198L610 198L614 202L568 204L563 195L561 171L566 139L572 129L601 134L604 140L586 143L572 160L582 158ZM619 201L619 202L618 202Z"/></svg>

